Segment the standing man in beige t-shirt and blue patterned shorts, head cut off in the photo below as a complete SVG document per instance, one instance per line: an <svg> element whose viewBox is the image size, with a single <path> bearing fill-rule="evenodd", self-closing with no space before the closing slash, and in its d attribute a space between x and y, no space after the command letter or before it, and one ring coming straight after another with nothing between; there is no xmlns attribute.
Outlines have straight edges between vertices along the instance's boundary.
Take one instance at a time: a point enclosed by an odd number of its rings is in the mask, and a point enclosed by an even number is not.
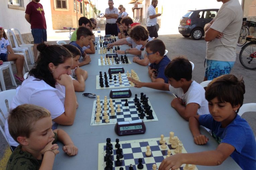
<svg viewBox="0 0 256 170"><path fill-rule="evenodd" d="M207 41L207 67L203 81L230 74L236 61L236 44L243 21L243 11L238 0L223 2L216 17L204 26Z"/></svg>

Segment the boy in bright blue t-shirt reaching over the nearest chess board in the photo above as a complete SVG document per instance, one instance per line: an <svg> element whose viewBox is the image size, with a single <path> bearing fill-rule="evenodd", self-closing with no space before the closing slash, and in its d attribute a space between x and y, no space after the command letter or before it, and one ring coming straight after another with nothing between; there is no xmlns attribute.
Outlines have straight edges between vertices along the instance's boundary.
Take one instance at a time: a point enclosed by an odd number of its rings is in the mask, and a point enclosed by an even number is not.
<svg viewBox="0 0 256 170"><path fill-rule="evenodd" d="M203 145L209 140L200 134L199 125L211 130L218 141L216 150L176 154L162 161L159 170L178 169L182 164L215 166L231 156L244 170L256 169L256 142L252 129L237 113L243 104L244 81L234 75L223 75L210 82L205 91L210 115L189 118L194 142Z"/></svg>

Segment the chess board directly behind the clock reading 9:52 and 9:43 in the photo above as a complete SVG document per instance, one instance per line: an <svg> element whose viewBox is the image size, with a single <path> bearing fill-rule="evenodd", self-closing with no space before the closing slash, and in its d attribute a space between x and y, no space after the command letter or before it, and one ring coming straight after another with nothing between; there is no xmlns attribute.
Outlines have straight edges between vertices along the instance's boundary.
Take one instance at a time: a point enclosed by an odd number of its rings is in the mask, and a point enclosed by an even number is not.
<svg viewBox="0 0 256 170"><path fill-rule="evenodd" d="M92 118L91 118L91 126L94 125L107 125L107 124L116 124L116 122L123 122L123 121L132 121L132 120L138 120L140 119L141 114L138 112L138 108L135 106L134 103L134 98L126 98L128 100L128 104L129 106L124 106L125 103L125 99L112 99L113 102L113 106L115 108L115 115L111 115L111 109L109 107L109 100L108 100L108 110L107 110L107 114L109 115L109 122L106 123L105 119L103 119L103 112L104 112L104 100L100 100L100 104L102 105L101 108L101 115L100 115L100 122L96 122L96 100L94 100L93 102L93 109L92 109ZM117 105L120 105L120 112L117 112ZM142 103L141 103L142 104ZM151 110L152 110L152 115L154 117L154 119L149 119L149 116L145 113L145 117L144 119L142 119L144 122L148 122L148 121L158 121L156 113L150 103L150 101L148 101L149 106L151 106ZM142 104L142 108L144 108L144 105Z"/></svg>

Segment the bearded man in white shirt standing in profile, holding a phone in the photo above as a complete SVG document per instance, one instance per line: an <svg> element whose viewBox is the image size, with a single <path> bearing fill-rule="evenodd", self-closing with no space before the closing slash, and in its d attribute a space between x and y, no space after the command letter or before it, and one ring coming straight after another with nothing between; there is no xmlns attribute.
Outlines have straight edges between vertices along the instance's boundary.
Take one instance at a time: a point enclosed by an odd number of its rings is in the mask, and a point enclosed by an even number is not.
<svg viewBox="0 0 256 170"><path fill-rule="evenodd" d="M158 4L158 0L152 0L151 5L147 11L147 30L149 31L150 37L158 37L157 33L157 17L161 16L161 14L156 14L156 6Z"/></svg>

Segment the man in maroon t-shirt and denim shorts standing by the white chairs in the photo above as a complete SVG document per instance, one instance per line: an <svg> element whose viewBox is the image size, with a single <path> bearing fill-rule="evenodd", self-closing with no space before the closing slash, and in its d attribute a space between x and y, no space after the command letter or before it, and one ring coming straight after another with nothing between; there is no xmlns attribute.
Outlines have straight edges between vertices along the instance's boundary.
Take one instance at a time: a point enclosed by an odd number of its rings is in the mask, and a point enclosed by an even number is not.
<svg viewBox="0 0 256 170"><path fill-rule="evenodd" d="M31 33L34 38L34 58L37 60L37 45L47 41L45 12L40 0L32 0L27 4L25 19L31 25Z"/></svg>

